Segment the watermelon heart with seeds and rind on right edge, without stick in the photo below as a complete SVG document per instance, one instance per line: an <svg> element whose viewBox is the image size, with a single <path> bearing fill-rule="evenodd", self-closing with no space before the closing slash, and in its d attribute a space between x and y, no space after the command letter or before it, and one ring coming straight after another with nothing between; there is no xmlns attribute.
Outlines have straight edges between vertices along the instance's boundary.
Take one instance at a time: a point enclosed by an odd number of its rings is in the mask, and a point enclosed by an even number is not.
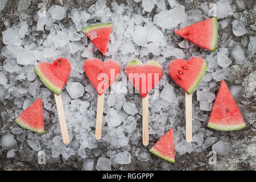
<svg viewBox="0 0 256 182"><path fill-rule="evenodd" d="M172 60L169 64L169 74L188 94L192 93L207 70L207 64L201 57L192 57L188 61Z"/></svg>

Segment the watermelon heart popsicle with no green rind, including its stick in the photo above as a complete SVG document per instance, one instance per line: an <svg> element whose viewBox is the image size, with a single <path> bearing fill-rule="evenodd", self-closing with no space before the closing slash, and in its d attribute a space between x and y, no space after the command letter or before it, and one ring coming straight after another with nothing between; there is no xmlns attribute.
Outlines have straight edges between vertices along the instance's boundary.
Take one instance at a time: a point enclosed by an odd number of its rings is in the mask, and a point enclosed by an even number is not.
<svg viewBox="0 0 256 182"><path fill-rule="evenodd" d="M92 82L98 92L97 116L95 138L101 138L102 117L104 109L104 93L110 85L118 78L120 67L117 61L106 60L104 62L97 58L89 58L84 63L86 76Z"/></svg>

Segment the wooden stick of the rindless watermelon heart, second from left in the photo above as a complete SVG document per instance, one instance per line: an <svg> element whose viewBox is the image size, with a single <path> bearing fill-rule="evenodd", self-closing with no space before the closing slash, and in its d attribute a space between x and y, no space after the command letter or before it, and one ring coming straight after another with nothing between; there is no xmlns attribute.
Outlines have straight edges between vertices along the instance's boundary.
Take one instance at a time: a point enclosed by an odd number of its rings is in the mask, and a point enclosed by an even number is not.
<svg viewBox="0 0 256 182"><path fill-rule="evenodd" d="M102 93L101 96L98 94L96 130L95 130L95 138L97 140L101 139L103 109L104 109L104 93Z"/></svg>

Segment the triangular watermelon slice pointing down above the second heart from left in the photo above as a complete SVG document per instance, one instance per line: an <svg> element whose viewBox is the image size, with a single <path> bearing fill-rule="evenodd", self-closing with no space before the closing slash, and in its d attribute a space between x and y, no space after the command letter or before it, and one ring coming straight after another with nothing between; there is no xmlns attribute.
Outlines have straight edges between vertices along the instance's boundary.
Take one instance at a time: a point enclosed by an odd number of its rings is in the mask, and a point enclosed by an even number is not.
<svg viewBox="0 0 256 182"><path fill-rule="evenodd" d="M109 35L112 32L112 28L113 23L100 23L82 28L82 31L105 56L108 51Z"/></svg>

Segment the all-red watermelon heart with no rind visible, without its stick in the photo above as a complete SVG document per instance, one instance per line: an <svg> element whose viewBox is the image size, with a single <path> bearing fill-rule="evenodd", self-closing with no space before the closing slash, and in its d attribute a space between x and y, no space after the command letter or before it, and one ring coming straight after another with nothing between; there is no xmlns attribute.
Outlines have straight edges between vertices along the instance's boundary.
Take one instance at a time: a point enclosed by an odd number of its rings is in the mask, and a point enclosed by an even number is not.
<svg viewBox="0 0 256 182"><path fill-rule="evenodd" d="M99 95L103 94L117 80L120 73L117 61L109 59L102 62L94 57L85 61L84 70Z"/></svg>

